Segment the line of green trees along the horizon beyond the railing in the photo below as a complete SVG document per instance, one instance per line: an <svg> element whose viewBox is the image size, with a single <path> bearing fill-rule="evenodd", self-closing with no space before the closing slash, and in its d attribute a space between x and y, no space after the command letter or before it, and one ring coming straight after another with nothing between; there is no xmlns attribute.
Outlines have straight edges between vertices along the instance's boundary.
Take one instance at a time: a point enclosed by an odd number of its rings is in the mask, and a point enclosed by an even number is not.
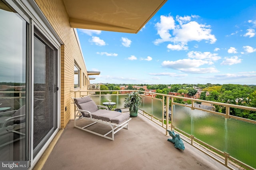
<svg viewBox="0 0 256 170"><path fill-rule="evenodd" d="M126 84L105 84L101 85L101 90L120 90L120 86ZM194 96L200 89L202 93L200 95L201 100L216 101L220 103L230 103L233 105L242 105L248 107L256 107L256 85L237 85L237 84L170 84L170 85L148 85L148 84L129 84L128 90L133 90L132 86L147 86L147 89L155 89L156 93L168 94L169 92L180 93L180 96L184 97L184 94L188 96ZM144 89L140 89L144 90ZM209 95L206 95L209 92ZM108 92L106 92L108 93ZM156 98L162 99L161 95L156 95ZM166 100L165 100L166 101ZM174 102L182 104L190 104L189 100L174 99ZM216 112L226 113L226 107L214 105ZM256 112L248 111L244 109L230 108L230 115L242 117L245 119L251 119L256 121Z"/></svg>

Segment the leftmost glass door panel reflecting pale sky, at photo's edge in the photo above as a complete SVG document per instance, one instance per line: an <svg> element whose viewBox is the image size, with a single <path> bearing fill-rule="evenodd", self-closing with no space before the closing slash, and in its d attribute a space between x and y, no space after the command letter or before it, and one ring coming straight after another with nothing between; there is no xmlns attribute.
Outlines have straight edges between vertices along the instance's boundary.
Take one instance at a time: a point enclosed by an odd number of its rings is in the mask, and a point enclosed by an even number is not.
<svg viewBox="0 0 256 170"><path fill-rule="evenodd" d="M0 0L0 160L26 160L28 23Z"/></svg>

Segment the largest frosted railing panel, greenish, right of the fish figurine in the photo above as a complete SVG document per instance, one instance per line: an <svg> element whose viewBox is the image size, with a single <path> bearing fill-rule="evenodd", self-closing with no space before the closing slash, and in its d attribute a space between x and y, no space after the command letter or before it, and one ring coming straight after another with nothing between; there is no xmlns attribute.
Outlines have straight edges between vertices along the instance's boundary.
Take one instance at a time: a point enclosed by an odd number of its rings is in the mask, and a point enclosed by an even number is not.
<svg viewBox="0 0 256 170"><path fill-rule="evenodd" d="M174 105L172 125L195 138L256 167L256 125Z"/></svg>

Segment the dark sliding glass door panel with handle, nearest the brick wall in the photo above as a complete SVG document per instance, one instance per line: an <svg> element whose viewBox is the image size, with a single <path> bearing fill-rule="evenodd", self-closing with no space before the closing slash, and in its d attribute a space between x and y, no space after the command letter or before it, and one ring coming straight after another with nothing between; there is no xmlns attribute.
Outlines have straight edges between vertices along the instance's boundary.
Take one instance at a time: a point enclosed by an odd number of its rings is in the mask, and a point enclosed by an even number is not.
<svg viewBox="0 0 256 170"><path fill-rule="evenodd" d="M35 28L34 34L34 157L57 127L57 49Z"/></svg>

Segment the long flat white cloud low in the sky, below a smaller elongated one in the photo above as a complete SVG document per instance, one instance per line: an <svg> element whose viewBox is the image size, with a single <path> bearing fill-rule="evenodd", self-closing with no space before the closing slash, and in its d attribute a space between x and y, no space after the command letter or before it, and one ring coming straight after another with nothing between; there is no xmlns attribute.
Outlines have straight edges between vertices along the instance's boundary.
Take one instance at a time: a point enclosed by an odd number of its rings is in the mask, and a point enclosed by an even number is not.
<svg viewBox="0 0 256 170"><path fill-rule="evenodd" d="M212 61L202 59L179 59L177 61L163 61L162 66L180 70L186 73L216 73L218 70L214 67L198 68L204 64L212 64Z"/></svg>

